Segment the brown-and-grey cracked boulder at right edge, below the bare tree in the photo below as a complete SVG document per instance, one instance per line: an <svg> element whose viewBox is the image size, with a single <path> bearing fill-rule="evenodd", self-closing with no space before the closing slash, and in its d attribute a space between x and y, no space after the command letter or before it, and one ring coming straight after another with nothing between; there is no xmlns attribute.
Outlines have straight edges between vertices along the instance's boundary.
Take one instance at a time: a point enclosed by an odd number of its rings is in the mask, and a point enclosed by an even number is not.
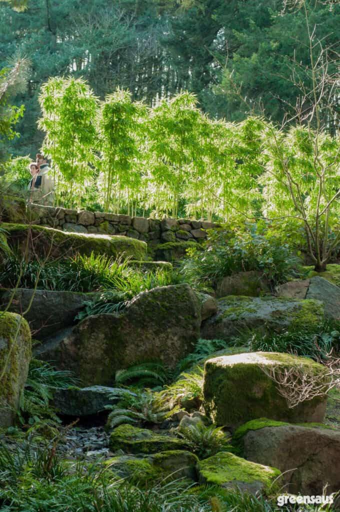
<svg viewBox="0 0 340 512"><path fill-rule="evenodd" d="M277 289L277 295L286 298L306 298L324 304L325 315L334 320L340 319L340 287L321 276L290 281Z"/></svg>

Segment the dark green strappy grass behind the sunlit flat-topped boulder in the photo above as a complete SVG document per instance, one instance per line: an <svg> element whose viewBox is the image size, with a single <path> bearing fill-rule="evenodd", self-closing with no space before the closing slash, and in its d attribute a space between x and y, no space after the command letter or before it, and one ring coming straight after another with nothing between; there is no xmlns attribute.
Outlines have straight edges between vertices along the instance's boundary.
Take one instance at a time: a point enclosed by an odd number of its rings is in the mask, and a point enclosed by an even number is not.
<svg viewBox="0 0 340 512"><path fill-rule="evenodd" d="M327 354L340 345L340 328L326 322L320 331L314 334L307 332L282 332L273 334L253 334L250 339L251 351L289 352L295 355L311 357L315 360L325 359Z"/></svg>

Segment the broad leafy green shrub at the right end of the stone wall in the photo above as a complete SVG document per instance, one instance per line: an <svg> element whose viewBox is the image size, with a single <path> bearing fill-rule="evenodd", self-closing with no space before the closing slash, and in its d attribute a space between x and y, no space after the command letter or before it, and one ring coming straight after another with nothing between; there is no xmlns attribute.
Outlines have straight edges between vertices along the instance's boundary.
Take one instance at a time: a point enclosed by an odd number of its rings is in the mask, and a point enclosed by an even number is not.
<svg viewBox="0 0 340 512"><path fill-rule="evenodd" d="M189 282L204 289L235 272L259 270L274 285L300 275L298 257L279 238L259 233L256 224L246 230L210 230L205 246L187 250L182 271Z"/></svg>

